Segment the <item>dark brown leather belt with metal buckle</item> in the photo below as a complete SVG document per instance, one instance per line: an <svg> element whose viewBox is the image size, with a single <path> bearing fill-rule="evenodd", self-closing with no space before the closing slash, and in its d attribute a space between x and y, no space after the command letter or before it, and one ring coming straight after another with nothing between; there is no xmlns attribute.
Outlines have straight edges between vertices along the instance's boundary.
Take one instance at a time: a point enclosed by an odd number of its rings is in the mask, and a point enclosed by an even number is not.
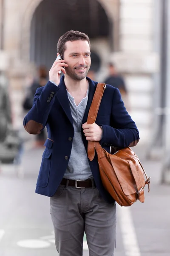
<svg viewBox="0 0 170 256"><path fill-rule="evenodd" d="M82 189L82 188L95 188L96 185L94 183L94 179L90 179L90 180L68 180L63 178L61 183L61 185L65 185L65 186L74 186L77 189Z"/></svg>

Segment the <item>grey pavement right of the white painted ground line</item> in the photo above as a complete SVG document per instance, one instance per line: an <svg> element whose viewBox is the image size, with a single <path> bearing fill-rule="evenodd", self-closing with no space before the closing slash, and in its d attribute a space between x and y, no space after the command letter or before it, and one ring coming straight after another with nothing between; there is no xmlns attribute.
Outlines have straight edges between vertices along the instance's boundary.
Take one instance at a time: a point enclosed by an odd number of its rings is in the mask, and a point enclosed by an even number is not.
<svg viewBox="0 0 170 256"><path fill-rule="evenodd" d="M161 161L144 160L144 150L134 148L151 177L150 193L146 186L144 204L137 202L129 207L137 241L141 256L170 256L170 186L161 184Z"/></svg>

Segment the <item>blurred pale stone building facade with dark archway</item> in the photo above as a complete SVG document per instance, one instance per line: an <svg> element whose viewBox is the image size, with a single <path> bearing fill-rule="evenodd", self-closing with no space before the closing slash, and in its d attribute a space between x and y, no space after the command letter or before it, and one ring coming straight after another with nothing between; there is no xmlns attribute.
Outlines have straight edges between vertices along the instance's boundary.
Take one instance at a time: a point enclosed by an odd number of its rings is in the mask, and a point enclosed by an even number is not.
<svg viewBox="0 0 170 256"><path fill-rule="evenodd" d="M155 25L161 12L158 2L162 0L0 0L0 68L10 81L14 125L22 122L26 76L40 64L49 69L60 35L74 29L91 39L98 81L108 75L109 61L124 75L130 115L139 128L141 145L148 144L156 123L155 83L160 86L156 80L160 51L155 43L156 35L159 41L161 36Z"/></svg>

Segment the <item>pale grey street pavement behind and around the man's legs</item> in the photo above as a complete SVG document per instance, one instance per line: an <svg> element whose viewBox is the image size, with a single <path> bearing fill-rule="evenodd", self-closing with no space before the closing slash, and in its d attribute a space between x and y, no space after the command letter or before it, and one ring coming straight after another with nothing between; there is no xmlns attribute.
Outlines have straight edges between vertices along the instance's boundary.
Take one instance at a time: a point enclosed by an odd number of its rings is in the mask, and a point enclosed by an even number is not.
<svg viewBox="0 0 170 256"><path fill-rule="evenodd" d="M13 165L0 167L0 256L58 255L49 198L34 192L42 152L24 152L23 178ZM159 162L142 164L151 176L150 193L146 187L144 204L117 206L115 256L170 256L170 186L159 184ZM83 256L88 256L85 239Z"/></svg>

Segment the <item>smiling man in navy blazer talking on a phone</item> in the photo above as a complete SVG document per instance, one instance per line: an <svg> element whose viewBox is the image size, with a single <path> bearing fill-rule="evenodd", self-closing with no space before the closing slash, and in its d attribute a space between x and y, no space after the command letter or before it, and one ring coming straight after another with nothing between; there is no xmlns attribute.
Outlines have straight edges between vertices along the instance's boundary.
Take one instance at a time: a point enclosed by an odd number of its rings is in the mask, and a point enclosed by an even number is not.
<svg viewBox="0 0 170 256"><path fill-rule="evenodd" d="M87 35L68 31L59 38L58 54L48 83L37 89L24 119L26 131L48 139L36 192L50 197L55 243L60 256L81 256L84 232L90 256L113 256L116 245L116 205L104 189L97 155L89 161L88 141L110 146L136 145L139 132L125 110L119 90L107 85L96 123L87 125L97 82L86 77L91 65ZM64 75L61 78L59 71Z"/></svg>

